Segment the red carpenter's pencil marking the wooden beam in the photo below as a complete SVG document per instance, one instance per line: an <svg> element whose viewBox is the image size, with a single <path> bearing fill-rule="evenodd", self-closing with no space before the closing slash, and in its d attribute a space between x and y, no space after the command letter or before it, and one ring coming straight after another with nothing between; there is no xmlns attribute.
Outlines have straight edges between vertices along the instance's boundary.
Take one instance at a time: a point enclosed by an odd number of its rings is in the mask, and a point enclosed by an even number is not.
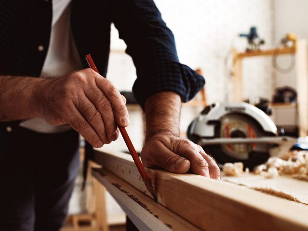
<svg viewBox="0 0 308 231"><path fill-rule="evenodd" d="M86 55L86 60L87 60L89 67L91 67L91 69L93 69L94 71L99 73L96 66L95 66L93 59L91 58L91 55ZM157 201L157 197L156 197L153 185L152 185L152 181L149 178L147 172L145 171L144 166L143 166L143 164L142 164L142 162L141 162L141 160L140 160L140 158L139 158L139 156L136 152L136 149L134 148L134 145L132 144L132 141L129 138L128 133L126 132L126 129L124 127L121 127L121 126L118 126L118 128L119 128L119 130L120 130L120 132L123 136L123 139L125 141L125 144L126 144L128 150L129 150L129 152L132 155L132 158L133 158L133 160L136 164L136 167L137 167L137 169L140 173L140 176L142 177L142 180L144 181L145 187L151 193L154 200Z"/></svg>

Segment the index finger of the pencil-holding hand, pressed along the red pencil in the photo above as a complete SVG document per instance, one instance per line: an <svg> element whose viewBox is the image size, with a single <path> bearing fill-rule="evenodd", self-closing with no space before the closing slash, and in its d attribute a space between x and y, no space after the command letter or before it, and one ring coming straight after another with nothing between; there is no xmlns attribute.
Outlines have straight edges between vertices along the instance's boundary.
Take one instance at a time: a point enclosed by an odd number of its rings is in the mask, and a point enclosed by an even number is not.
<svg viewBox="0 0 308 231"><path fill-rule="evenodd" d="M115 121L120 126L127 127L129 125L128 111L120 92L109 80L100 75L96 76L96 85L104 93L104 95L106 95L107 99L111 103Z"/></svg>

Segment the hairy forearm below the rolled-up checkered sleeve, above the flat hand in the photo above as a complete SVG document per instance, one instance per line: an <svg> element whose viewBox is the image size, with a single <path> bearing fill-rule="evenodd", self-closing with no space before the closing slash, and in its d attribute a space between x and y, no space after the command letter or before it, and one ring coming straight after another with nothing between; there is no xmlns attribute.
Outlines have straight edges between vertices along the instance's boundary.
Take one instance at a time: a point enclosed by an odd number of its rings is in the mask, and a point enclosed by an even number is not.
<svg viewBox="0 0 308 231"><path fill-rule="evenodd" d="M172 91L152 95L145 101L145 141L157 134L179 136L181 99Z"/></svg>

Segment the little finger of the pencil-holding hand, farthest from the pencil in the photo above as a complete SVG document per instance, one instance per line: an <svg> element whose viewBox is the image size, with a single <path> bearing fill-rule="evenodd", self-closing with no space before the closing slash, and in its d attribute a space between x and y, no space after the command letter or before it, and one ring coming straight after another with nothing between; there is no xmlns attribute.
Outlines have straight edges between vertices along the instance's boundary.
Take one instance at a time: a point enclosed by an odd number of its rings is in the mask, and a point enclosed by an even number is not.
<svg viewBox="0 0 308 231"><path fill-rule="evenodd" d="M91 125L85 120L83 115L77 110L77 108L73 108L71 112L71 118L69 118L68 123L71 125L73 129L80 133L84 139L86 139L93 147L100 148L102 147L103 141L100 140L97 133L91 127Z"/></svg>

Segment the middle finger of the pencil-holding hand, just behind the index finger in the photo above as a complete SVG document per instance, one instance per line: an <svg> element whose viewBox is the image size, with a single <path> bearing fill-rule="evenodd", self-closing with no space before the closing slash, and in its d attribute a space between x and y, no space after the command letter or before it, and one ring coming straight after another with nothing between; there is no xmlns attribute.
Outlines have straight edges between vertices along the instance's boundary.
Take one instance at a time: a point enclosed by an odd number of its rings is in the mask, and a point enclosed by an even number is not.
<svg viewBox="0 0 308 231"><path fill-rule="evenodd" d="M119 133L117 132L117 125L115 123L112 107L107 97L97 86L88 88L84 93L94 104L97 111L99 111L103 119L107 139L109 141L116 140L119 137Z"/></svg>

